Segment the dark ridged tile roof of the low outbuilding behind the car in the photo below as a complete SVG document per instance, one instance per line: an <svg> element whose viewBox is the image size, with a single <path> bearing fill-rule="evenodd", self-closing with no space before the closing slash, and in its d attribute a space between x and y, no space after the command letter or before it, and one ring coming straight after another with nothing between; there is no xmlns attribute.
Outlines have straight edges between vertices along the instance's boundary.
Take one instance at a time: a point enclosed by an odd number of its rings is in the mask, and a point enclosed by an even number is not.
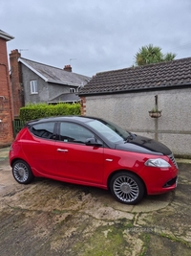
<svg viewBox="0 0 191 256"><path fill-rule="evenodd" d="M79 92L109 94L191 85L191 58L97 73Z"/></svg>

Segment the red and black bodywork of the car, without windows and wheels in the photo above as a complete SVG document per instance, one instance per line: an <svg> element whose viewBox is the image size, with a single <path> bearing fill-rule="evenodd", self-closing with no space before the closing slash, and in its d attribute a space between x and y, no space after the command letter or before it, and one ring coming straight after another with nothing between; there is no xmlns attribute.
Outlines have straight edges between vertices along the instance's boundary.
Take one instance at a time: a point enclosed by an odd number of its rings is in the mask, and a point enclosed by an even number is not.
<svg viewBox="0 0 191 256"><path fill-rule="evenodd" d="M44 176L76 184L108 189L110 177L117 172L131 172L142 180L148 195L161 194L176 188L176 183L164 184L178 175L178 168L168 154L172 152L151 139L133 135L129 140L114 143L104 138L103 133L88 126L92 119L84 117L51 118L55 122L54 139L40 138L32 134L31 127L46 119L32 121L16 136L11 145L10 164L23 159L34 176ZM99 119L97 119L99 120ZM100 145L86 145L59 141L60 122L74 122L89 128ZM168 168L145 166L148 159L162 158L170 164Z"/></svg>

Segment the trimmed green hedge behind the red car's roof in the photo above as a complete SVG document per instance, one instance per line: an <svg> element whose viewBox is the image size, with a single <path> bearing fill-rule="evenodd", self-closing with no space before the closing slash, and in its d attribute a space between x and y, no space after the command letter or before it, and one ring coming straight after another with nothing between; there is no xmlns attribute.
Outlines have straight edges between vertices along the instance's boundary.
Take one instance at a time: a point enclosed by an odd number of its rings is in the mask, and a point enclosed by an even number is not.
<svg viewBox="0 0 191 256"><path fill-rule="evenodd" d="M50 116L80 115L80 104L36 104L20 108L20 120L30 121Z"/></svg>

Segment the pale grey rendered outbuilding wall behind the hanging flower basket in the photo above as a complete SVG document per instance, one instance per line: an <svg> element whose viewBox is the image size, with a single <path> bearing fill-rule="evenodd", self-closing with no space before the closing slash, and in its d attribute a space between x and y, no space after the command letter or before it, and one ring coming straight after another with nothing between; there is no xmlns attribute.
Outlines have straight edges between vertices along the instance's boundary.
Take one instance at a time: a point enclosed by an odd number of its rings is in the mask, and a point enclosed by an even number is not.
<svg viewBox="0 0 191 256"><path fill-rule="evenodd" d="M161 117L151 118L156 95ZM86 97L86 115L108 119L191 157L191 88Z"/></svg>

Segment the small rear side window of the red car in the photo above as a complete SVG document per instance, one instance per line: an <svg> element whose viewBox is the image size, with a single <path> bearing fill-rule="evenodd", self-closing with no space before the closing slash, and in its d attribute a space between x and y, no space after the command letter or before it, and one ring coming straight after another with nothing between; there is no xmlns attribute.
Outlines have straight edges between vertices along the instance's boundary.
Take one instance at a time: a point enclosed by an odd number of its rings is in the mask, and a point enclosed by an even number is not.
<svg viewBox="0 0 191 256"><path fill-rule="evenodd" d="M44 138L44 139L54 139L55 137L53 134L53 128L54 128L54 123L48 122L48 123L33 125L31 128L31 131L37 137Z"/></svg>

